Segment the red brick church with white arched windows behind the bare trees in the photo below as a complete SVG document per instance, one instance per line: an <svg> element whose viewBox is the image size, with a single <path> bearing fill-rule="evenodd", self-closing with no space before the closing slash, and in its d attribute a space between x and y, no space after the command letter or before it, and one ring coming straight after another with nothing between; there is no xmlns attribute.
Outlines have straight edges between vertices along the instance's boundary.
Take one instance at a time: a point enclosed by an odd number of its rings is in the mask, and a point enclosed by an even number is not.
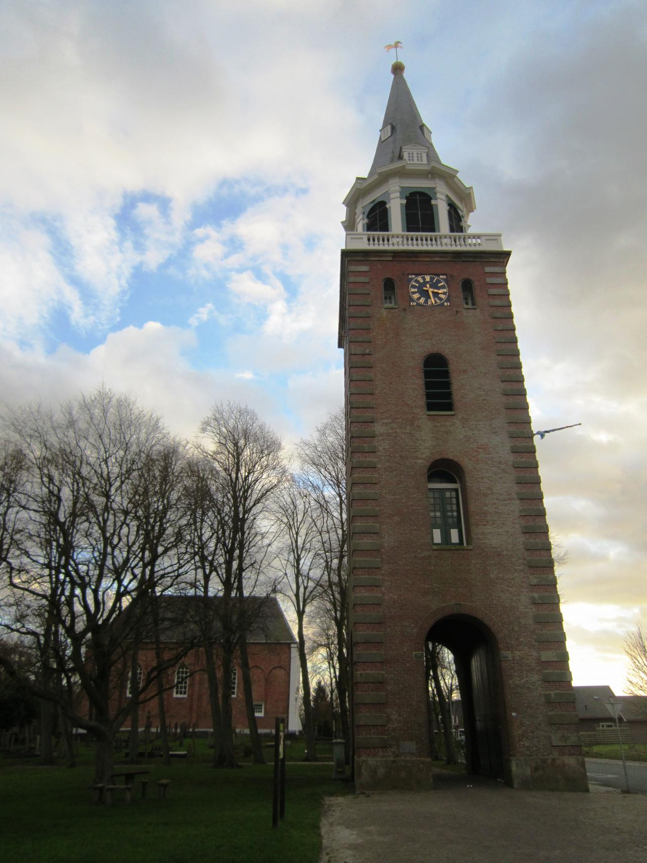
<svg viewBox="0 0 647 863"><path fill-rule="evenodd" d="M248 602L254 597L248 597ZM214 599L217 602L217 598ZM186 639L195 636L192 624L192 597L164 597L165 620L161 624L163 633L162 649L173 653ZM178 608L175 608L175 607ZM217 646L214 648L217 653ZM138 650L138 678L141 685L146 670L154 665L155 650L152 641L143 641ZM286 615L275 597L262 600L260 612L254 615L251 631L248 633L248 658L252 677L252 696L254 715L261 733L273 731L274 718L285 716L288 731L301 730L298 715L299 664L297 642ZM198 732L209 732L213 728L209 706L209 690L204 671L204 649L193 647L167 673L164 707L166 723L175 726L185 723L188 728ZM223 685L223 681L218 683ZM231 687L231 707L233 726L237 731L248 729L245 696L242 687L240 658L235 658ZM129 674L123 673L116 685L115 698L119 705L129 696ZM115 705L116 707L116 705ZM157 698L141 704L139 724L151 728L160 725ZM127 720L122 730L130 728Z"/></svg>

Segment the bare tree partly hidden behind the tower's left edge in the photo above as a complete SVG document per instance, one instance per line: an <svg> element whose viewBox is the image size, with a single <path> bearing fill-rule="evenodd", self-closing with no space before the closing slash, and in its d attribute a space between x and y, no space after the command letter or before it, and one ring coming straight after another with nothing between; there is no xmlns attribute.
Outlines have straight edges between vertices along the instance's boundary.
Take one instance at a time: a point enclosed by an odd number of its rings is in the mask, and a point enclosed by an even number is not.
<svg viewBox="0 0 647 863"><path fill-rule="evenodd" d="M313 496L324 576L323 595L336 635L336 695L346 759L350 757L349 584L346 513L346 431L342 408L298 444L302 476Z"/></svg>

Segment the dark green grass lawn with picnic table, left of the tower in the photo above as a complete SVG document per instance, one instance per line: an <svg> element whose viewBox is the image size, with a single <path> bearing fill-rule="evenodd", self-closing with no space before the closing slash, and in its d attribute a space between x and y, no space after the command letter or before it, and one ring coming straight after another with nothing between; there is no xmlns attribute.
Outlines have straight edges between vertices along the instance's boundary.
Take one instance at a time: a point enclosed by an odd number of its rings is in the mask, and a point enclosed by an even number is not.
<svg viewBox="0 0 647 863"><path fill-rule="evenodd" d="M324 795L344 793L332 765L286 764L286 817L272 828L272 766L215 770L195 759L148 760L148 798L111 808L91 802L91 753L81 765L10 764L0 769L3 859L12 863L316 863ZM84 757L85 756L85 757ZM2 762L0 762L1 764ZM5 762L6 764L6 762ZM120 767L123 759L116 761ZM171 779L157 800L155 781ZM135 786L135 798L139 793Z"/></svg>

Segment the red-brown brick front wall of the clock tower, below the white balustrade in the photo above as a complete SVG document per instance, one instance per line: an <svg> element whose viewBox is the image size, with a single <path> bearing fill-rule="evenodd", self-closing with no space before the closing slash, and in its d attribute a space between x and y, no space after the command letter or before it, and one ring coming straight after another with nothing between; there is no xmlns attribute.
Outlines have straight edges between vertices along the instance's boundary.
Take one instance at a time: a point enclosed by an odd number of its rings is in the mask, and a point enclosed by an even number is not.
<svg viewBox="0 0 647 863"><path fill-rule="evenodd" d="M448 614L497 646L506 758L581 753L507 252L342 252L355 754L428 755L424 640ZM410 306L409 274L449 306ZM382 305L395 280L397 306ZM461 280L475 308L462 307ZM430 415L424 356L449 360L455 413ZM432 549L426 473L462 469L467 547ZM404 746L403 746L404 744Z"/></svg>

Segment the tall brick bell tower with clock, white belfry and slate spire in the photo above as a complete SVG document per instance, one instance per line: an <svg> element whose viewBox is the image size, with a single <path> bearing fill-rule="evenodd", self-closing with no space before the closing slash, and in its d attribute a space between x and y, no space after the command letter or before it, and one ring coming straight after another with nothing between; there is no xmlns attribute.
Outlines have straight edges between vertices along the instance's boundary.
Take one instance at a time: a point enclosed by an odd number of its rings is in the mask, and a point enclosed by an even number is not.
<svg viewBox="0 0 647 863"><path fill-rule="evenodd" d="M344 201L353 753L430 788L425 646L454 654L470 772L587 791L500 234L393 84Z"/></svg>

